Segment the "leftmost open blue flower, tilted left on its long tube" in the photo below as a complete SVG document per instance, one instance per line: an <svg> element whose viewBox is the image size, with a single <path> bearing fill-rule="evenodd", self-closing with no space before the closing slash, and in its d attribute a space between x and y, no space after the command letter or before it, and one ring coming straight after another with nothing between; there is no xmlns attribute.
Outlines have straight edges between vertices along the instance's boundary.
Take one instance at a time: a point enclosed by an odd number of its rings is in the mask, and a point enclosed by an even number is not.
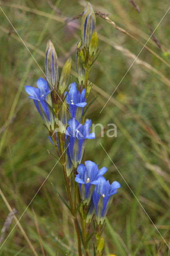
<svg viewBox="0 0 170 256"><path fill-rule="evenodd" d="M50 130L54 126L53 114L49 110L49 107L44 100L47 100L48 94L51 92L51 90L49 90L47 82L41 77L37 80L37 87L38 88L26 85L25 90L29 95L28 98L34 100L34 104L38 112L42 116L42 119L44 120L47 128Z"/></svg>

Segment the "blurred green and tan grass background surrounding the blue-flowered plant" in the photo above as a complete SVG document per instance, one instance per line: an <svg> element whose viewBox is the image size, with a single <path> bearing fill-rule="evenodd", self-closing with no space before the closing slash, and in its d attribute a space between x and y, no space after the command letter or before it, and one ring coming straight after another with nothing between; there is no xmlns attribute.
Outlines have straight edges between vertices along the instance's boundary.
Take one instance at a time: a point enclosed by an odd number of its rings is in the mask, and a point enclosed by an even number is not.
<svg viewBox="0 0 170 256"><path fill-rule="evenodd" d="M97 15L99 49L102 50L89 79L94 83L88 102L99 94L87 118L117 125L117 138L100 136L88 142L86 159L108 167L105 175L121 184L108 213L103 255L170 255L170 102L169 102L169 12L134 62L105 106L128 68L168 10L168 0L91 0L95 11L109 14L119 29ZM138 6L135 6L135 4ZM72 56L75 76L75 49L80 37L84 0L7 0L0 7L45 72L44 52L50 39L57 51L59 66ZM136 9L136 10L135 10ZM55 165L54 153L42 119L28 100L24 85L36 86L42 71L11 24L0 10L0 229L15 208L20 218ZM140 12L139 12L140 10ZM120 31L124 29L127 33ZM61 71L61 68L60 68ZM71 82L71 79L70 79ZM126 180L154 227L127 184ZM59 165L22 216L0 255L77 255L76 235L67 208L51 186L65 197ZM16 224L12 221L4 240ZM26 240L27 239L27 240ZM3 241L4 241L3 240ZM3 242L2 241L2 242ZM32 245L32 248L29 246ZM42 249L43 247L43 249ZM34 248L34 249L33 249ZM43 250L45 254L43 253Z"/></svg>

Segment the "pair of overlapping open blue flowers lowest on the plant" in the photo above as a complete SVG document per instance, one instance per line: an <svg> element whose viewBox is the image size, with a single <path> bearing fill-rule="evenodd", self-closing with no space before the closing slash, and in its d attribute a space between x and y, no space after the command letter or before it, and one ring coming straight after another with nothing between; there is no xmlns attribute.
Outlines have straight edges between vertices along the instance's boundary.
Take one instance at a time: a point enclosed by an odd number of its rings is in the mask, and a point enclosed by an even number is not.
<svg viewBox="0 0 170 256"><path fill-rule="evenodd" d="M93 217L93 208L96 213L97 224L103 224L109 206L113 200L113 195L117 193L120 184L114 181L112 184L103 177L107 171L106 167L98 169L97 164L85 161L85 165L80 164L77 168L78 174L75 181L79 184L83 203L90 204L87 221Z"/></svg>

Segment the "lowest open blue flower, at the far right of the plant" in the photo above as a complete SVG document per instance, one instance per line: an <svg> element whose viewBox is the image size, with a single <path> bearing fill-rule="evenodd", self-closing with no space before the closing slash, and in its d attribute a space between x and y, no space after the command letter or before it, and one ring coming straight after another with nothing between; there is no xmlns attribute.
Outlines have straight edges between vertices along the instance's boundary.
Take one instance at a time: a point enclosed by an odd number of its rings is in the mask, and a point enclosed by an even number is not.
<svg viewBox="0 0 170 256"><path fill-rule="evenodd" d="M101 179L100 184L96 186L93 192L93 203L98 224L100 222L103 224L107 211L111 206L113 195L117 193L120 186L119 182L114 181L110 184L109 180L106 181L105 178Z"/></svg>

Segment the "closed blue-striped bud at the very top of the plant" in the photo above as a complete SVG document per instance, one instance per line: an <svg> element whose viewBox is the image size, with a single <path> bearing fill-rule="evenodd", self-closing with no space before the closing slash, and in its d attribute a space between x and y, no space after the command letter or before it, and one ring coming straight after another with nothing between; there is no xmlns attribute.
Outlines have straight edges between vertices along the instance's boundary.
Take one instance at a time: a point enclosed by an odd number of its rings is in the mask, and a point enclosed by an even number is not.
<svg viewBox="0 0 170 256"><path fill-rule="evenodd" d="M95 30L96 18L95 12L91 4L87 4L81 20L81 35L83 38L83 45L88 48L91 40L91 36Z"/></svg>

